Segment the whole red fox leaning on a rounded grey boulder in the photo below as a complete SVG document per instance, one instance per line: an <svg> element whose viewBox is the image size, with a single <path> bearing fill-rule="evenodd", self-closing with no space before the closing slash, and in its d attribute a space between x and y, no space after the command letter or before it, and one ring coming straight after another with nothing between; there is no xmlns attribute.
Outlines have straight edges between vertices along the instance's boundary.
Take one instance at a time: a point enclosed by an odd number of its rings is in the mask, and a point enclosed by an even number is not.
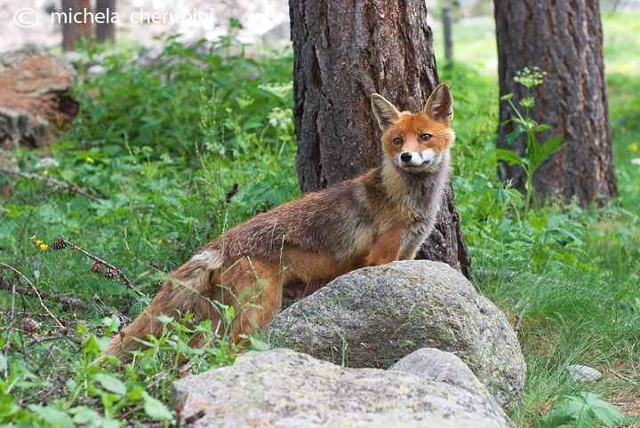
<svg viewBox="0 0 640 428"><path fill-rule="evenodd" d="M416 114L398 111L376 93L371 100L382 131L380 166L284 203L207 244L170 274L173 281L164 282L105 352L131 351L141 347L135 338L159 336L161 314L190 311L196 322L211 319L215 328L223 322L216 302L234 306L230 340L243 345L284 301L359 267L414 258L434 226L449 177L452 94L441 83Z"/></svg>

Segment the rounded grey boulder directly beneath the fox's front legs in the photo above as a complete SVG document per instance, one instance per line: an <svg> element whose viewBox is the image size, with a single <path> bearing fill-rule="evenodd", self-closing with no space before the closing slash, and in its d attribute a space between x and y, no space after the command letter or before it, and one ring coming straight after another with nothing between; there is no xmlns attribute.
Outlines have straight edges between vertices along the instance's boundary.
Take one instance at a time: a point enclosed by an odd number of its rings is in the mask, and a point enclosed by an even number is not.
<svg viewBox="0 0 640 428"><path fill-rule="evenodd" d="M351 368L388 368L428 346L455 353L503 407L526 366L507 318L443 263L398 261L340 276L279 313L276 346Z"/></svg>

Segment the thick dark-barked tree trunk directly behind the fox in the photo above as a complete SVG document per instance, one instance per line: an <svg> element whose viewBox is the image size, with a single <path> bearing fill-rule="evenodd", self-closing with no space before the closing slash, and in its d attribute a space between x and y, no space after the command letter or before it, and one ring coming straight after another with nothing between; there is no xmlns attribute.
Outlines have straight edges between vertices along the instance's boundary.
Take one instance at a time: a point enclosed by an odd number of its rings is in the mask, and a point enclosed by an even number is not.
<svg viewBox="0 0 640 428"><path fill-rule="evenodd" d="M438 83L424 0L290 0L293 121L302 192L354 178L380 162L371 108L378 92L420 111ZM419 258L470 275L451 185Z"/></svg>

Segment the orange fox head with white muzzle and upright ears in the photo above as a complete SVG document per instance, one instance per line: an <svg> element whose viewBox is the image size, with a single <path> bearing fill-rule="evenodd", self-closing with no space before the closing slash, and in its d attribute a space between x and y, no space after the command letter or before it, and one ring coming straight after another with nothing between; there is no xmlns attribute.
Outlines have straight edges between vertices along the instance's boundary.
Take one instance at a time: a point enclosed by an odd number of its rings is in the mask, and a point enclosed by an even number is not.
<svg viewBox="0 0 640 428"><path fill-rule="evenodd" d="M420 113L400 112L381 95L372 94L373 113L382 130L382 151L396 167L408 172L432 172L452 147L455 133L453 99L440 83Z"/></svg>

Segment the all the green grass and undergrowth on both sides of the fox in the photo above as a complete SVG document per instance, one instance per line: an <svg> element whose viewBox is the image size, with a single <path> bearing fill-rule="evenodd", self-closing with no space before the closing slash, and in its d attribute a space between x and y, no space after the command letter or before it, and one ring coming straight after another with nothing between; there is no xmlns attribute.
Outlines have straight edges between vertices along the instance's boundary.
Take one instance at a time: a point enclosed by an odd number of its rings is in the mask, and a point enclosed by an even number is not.
<svg viewBox="0 0 640 428"><path fill-rule="evenodd" d="M495 40L478 36L492 35L490 17L454 25L456 61L439 70L455 99L452 179L475 285L510 321L520 320L528 374L511 413L518 426L535 426L556 403L562 408L563 396L580 392L620 406L625 426L640 424L636 386L608 371L640 381L640 165L631 162L640 157L640 14L603 14L603 22L620 190L603 208L545 205L524 220L521 195L496 180ZM434 26L442 63L440 34ZM34 343L15 330L8 337L11 294L0 291L0 349L12 343L8 360L0 353L0 424L113 426L113 416L130 411L132 421L165 420L168 386L180 372L176 353L196 372L233 360L222 338L194 350L186 344L196 331L179 328L114 372L97 361L103 336L116 327L118 311L134 316L148 297L92 273L82 254L43 250L37 241L62 235L153 296L166 272L225 228L297 197L291 52L262 57L244 49L230 38L210 51L172 39L154 66L131 67L136 52L116 48L108 72L78 86L83 109L59 141L46 151L14 153L20 170L73 183L91 197L0 177L0 260L24 273L69 327L58 337L60 327L38 300L18 297L16 310L41 322L38 332L48 339ZM234 183L238 191L228 199ZM0 273L29 287L11 270ZM83 299L88 310L69 311L50 298L56 293ZM196 329L212 333L206 323ZM573 383L564 368L575 363L604 378ZM50 395L43 400L40 391Z"/></svg>

